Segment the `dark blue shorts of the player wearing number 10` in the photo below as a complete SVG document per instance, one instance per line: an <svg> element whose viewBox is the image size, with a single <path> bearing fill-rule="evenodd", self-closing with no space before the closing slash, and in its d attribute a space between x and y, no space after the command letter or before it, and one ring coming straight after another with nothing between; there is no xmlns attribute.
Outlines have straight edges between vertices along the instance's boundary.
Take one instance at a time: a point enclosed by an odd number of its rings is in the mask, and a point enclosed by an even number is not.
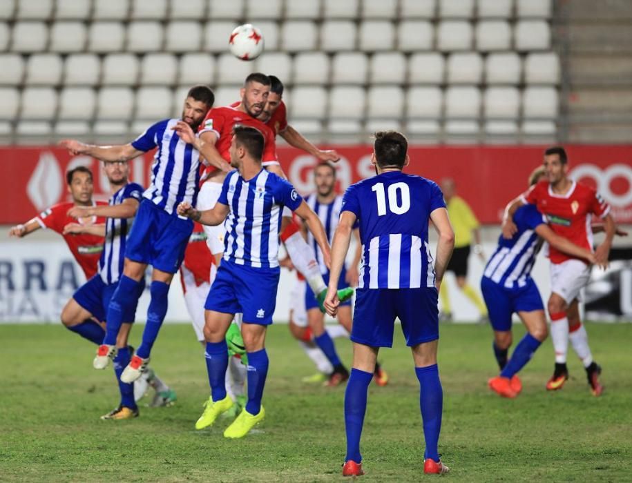
<svg viewBox="0 0 632 483"><path fill-rule="evenodd" d="M392 347L396 317L406 345L439 339L436 288L358 288L351 339L371 347Z"/></svg>

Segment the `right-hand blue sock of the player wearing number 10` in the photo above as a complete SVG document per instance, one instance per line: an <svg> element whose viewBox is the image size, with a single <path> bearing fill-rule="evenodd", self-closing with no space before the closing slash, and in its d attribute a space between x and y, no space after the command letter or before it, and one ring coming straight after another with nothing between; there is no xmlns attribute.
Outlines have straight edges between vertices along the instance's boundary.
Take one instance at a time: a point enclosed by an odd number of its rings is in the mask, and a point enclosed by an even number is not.
<svg viewBox="0 0 632 483"><path fill-rule="evenodd" d="M443 389L439 380L437 364L416 367L414 371L419 380L419 406L423 421L425 439L424 459L439 461L439 433L441 432L441 414L443 413Z"/></svg>

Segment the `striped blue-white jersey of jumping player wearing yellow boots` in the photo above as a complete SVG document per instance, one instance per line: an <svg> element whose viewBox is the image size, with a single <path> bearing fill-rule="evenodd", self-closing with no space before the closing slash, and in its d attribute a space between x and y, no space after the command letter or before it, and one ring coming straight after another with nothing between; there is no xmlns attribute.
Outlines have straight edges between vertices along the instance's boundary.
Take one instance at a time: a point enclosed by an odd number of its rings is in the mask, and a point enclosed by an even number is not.
<svg viewBox="0 0 632 483"><path fill-rule="evenodd" d="M237 170L224 179L218 203L228 205L224 221L224 259L253 268L278 264L278 233L283 206L296 210L303 198L285 179L260 170L246 181Z"/></svg>

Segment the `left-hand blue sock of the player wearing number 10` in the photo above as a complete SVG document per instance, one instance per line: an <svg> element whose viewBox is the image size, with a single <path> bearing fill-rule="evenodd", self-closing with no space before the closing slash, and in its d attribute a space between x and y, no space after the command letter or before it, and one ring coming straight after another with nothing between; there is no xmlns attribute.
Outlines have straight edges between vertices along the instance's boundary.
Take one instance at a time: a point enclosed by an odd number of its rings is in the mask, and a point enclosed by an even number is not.
<svg viewBox="0 0 632 483"><path fill-rule="evenodd" d="M345 430L347 431L347 455L345 462L362 461L360 454L360 436L367 411L367 390L373 373L352 368L347 388L345 389Z"/></svg>

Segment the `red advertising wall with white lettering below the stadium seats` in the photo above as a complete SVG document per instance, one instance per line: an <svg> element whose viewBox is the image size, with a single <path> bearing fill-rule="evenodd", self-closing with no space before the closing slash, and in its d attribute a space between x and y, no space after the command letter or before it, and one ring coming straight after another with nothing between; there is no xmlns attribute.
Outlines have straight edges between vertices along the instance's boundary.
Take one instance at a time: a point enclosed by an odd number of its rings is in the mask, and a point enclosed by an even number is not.
<svg viewBox="0 0 632 483"><path fill-rule="evenodd" d="M337 148L341 190L373 175L370 146ZM485 224L497 224L501 208L527 188L527 177L542 161L542 146L414 146L408 172L439 181L452 177L459 195L467 199ZM613 208L620 223L632 223L632 145L567 146L571 175L595 186ZM311 189L315 159L294 148L278 155L290 181L301 193ZM0 224L30 219L35 213L67 199L64 173L83 164L97 173L95 197L108 197L107 179L95 159L71 156L51 146L0 148ZM151 153L133 161L132 179L149 182Z"/></svg>

